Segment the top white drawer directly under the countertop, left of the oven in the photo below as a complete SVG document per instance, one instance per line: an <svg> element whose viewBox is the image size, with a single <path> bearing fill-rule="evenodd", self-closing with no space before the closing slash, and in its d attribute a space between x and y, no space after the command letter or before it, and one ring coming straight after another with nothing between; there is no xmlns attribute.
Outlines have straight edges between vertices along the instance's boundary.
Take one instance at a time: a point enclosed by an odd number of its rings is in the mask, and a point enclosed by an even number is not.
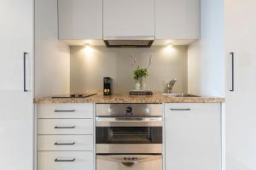
<svg viewBox="0 0 256 170"><path fill-rule="evenodd" d="M38 118L93 118L93 104L38 105Z"/></svg>

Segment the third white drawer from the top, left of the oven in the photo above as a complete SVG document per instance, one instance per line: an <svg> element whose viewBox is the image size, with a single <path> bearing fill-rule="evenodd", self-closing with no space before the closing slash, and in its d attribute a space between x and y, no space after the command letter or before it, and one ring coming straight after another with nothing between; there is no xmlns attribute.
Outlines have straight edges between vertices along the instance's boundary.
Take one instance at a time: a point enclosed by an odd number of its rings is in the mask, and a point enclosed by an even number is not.
<svg viewBox="0 0 256 170"><path fill-rule="evenodd" d="M93 150L92 135L38 135L38 150Z"/></svg>

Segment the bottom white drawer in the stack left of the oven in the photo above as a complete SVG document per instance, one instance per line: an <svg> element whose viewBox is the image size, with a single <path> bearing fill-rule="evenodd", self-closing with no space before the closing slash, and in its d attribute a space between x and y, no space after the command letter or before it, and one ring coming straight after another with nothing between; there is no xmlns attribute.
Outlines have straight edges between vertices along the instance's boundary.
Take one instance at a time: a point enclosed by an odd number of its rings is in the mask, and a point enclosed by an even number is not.
<svg viewBox="0 0 256 170"><path fill-rule="evenodd" d="M38 151L38 170L93 170L92 151Z"/></svg>

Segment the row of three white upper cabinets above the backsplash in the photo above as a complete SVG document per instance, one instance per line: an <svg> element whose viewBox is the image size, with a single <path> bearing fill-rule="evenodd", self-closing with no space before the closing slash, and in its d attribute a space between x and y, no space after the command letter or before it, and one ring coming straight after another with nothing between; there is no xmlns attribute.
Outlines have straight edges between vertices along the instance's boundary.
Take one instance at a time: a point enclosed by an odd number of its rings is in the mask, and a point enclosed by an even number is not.
<svg viewBox="0 0 256 170"><path fill-rule="evenodd" d="M200 0L58 0L61 40L200 38Z"/></svg>

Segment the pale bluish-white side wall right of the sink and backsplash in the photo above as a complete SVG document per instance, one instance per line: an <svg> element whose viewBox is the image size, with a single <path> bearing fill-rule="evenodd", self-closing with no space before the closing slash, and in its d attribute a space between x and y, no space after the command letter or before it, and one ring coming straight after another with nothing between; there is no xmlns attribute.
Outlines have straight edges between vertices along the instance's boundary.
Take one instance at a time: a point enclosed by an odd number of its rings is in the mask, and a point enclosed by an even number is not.
<svg viewBox="0 0 256 170"><path fill-rule="evenodd" d="M201 40L188 50L188 91L224 96L224 84L224 1L201 0Z"/></svg>

